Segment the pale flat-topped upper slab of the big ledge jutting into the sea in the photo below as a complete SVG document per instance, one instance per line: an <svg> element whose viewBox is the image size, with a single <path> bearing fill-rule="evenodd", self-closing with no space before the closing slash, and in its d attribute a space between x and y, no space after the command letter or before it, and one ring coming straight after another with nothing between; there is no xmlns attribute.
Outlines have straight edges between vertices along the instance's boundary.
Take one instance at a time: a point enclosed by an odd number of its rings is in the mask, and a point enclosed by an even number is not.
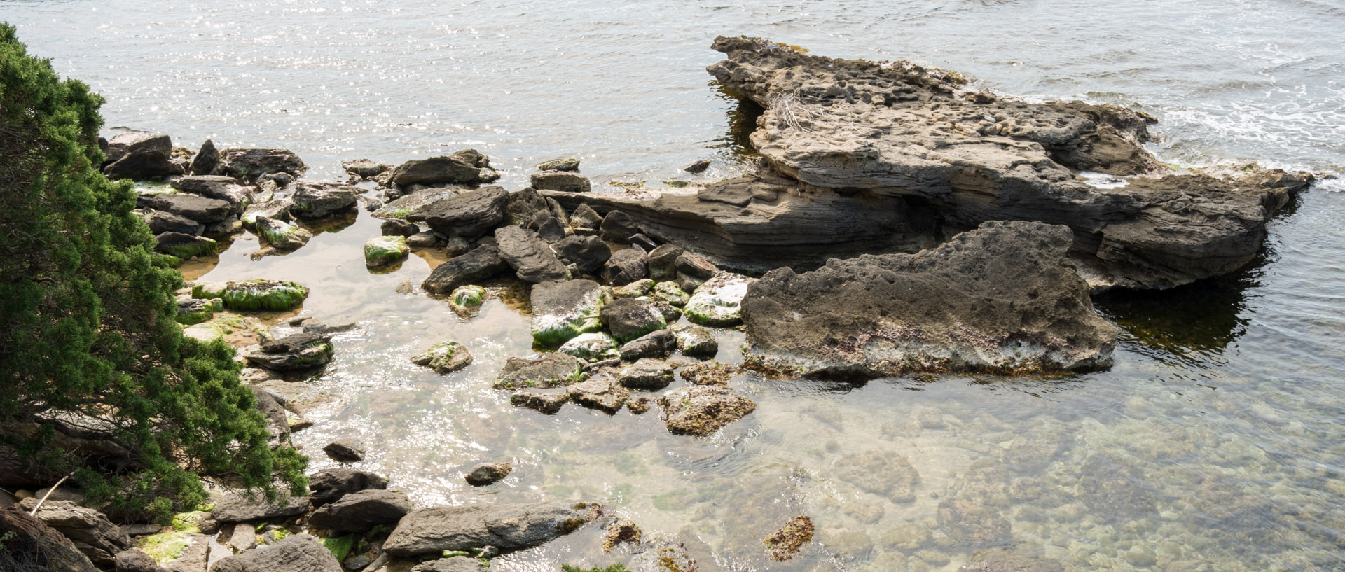
<svg viewBox="0 0 1345 572"><path fill-rule="evenodd" d="M1310 180L1270 171L1096 188L1076 172L1163 175L1141 146L1151 117L974 93L939 70L811 56L757 38L721 36L713 48L728 59L710 74L765 107L752 142L772 171L826 192L917 197L963 228L1065 224L1096 286L1170 287L1232 271Z"/></svg>

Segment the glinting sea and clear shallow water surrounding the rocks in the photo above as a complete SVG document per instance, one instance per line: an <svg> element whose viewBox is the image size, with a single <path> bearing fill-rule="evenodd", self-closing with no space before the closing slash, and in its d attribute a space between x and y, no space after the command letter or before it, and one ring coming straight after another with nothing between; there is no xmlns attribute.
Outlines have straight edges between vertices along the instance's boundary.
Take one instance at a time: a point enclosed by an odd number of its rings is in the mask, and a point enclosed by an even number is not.
<svg viewBox="0 0 1345 572"><path fill-rule="evenodd" d="M1345 8L1326 1L0 1L32 52L108 97L109 126L195 148L286 146L313 177L339 162L398 162L472 146L525 184L531 165L578 153L597 181L706 177L744 168L737 110L703 67L717 34L764 35L816 54L915 59L1028 98L1135 105L1162 120L1169 162L1258 160L1345 171ZM709 439L674 436L656 411L573 406L543 416L490 383L530 353L527 318L499 298L461 321L418 285L413 255L370 274L378 222L286 256L256 238L207 279L285 278L304 313L360 329L309 381L331 392L296 434L316 451L358 436L366 465L417 504L564 498L604 502L647 534L675 534L701 569L956 569L937 505L966 499L1011 525L1014 548L1067 569L1311 571L1345 560L1345 193L1323 181L1271 224L1250 269L1176 291L1108 295L1126 329L1116 367L1065 379L936 377L862 385L741 376L757 401ZM437 376L409 356L465 344ZM740 333L721 332L722 360ZM679 383L681 384L681 383ZM894 451L920 473L913 502L870 493L850 454ZM514 459L502 485L463 469ZM328 462L315 458L315 467ZM816 542L790 563L761 538L795 514ZM588 530L495 568L607 564ZM924 540L921 540L924 538Z"/></svg>

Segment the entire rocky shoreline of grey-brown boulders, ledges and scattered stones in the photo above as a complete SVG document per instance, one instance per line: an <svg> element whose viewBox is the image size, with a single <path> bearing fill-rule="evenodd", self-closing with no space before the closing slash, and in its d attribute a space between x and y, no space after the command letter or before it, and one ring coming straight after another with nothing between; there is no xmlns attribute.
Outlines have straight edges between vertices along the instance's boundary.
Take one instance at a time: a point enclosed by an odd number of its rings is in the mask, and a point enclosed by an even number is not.
<svg viewBox="0 0 1345 572"><path fill-rule="evenodd" d="M970 90L952 73L756 38L720 38L714 48L726 59L709 71L765 109L752 133L760 166L655 199L594 191L574 158L538 165L516 191L491 185L500 173L472 149L397 166L350 161L348 180L311 181L289 150L206 141L191 153L141 132L104 142L104 172L169 183L137 205L157 251L179 262L214 255L243 230L265 244L254 258L304 248L363 205L385 220L363 247L370 271L413 250L444 252L420 286L463 320L490 295L487 281L525 285L537 354L511 357L494 381L515 407L656 408L668 432L689 436L756 410L732 388L737 368L714 360L730 328L746 336L744 365L772 376L1106 369L1119 329L1095 312L1092 293L1167 289L1245 266L1267 220L1311 181L1275 169L1171 173L1142 146L1154 120L1122 107L1028 103ZM1089 173L1112 180L1096 185ZM191 336L222 337L225 320L246 332L229 341L242 349L276 447L291 446L309 423L307 404L323 399L285 375L330 364L334 338L354 326L300 317L273 332L245 316L297 309L308 293L295 282L199 282L179 301ZM436 340L405 359L451 375L472 350ZM686 384L668 389L677 380ZM362 458L358 443L327 454ZM511 471L476 469L473 486ZM909 489L919 475L905 469ZM280 502L221 487L167 528L81 506L78 494L36 509L42 491L26 490L0 497L17 508L0 520L74 571L444 572L486 569L502 552L584 526L607 529L605 542L642 542L635 524L589 502L417 508L387 486L342 467L312 475L309 497ZM959 502L939 505L950 530L983 538L987 526L1006 528ZM785 560L812 526L791 520L763 551ZM632 569L690 559L643 542L668 556L635 559ZM1007 569L997 567L1020 557L983 552L968 569Z"/></svg>

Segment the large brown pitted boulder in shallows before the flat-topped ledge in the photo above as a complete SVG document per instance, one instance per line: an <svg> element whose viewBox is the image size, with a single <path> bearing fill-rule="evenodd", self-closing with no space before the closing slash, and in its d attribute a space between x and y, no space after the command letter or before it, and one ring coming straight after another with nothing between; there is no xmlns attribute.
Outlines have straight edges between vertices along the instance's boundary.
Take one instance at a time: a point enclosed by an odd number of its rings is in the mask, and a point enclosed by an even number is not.
<svg viewBox="0 0 1345 572"><path fill-rule="evenodd" d="M773 270L742 302L751 360L847 376L1110 367L1118 330L1093 312L1071 242L1065 227L991 222L920 254Z"/></svg>

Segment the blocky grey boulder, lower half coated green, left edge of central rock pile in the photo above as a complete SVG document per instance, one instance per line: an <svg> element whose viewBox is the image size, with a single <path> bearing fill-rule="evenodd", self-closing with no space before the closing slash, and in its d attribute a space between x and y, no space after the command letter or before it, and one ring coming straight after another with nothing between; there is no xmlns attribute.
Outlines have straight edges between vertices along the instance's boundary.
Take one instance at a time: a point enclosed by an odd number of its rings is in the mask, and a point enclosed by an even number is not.
<svg viewBox="0 0 1345 572"><path fill-rule="evenodd" d="M570 338L603 329L601 310L608 294L593 281L542 282L533 286L533 342L554 348Z"/></svg>

